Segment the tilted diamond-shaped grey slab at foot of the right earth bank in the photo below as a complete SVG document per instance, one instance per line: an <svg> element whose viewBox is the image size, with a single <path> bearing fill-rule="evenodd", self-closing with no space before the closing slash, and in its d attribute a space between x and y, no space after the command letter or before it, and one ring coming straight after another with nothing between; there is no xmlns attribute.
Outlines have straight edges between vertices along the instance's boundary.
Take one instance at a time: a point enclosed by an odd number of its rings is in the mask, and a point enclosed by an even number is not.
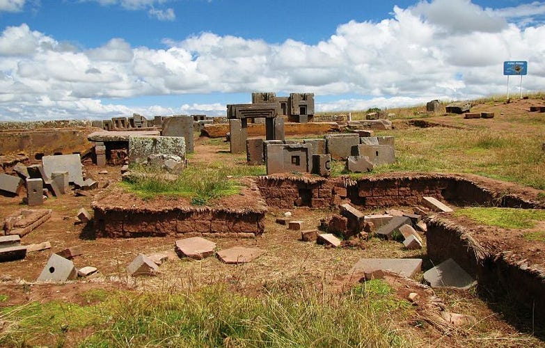
<svg viewBox="0 0 545 348"><path fill-rule="evenodd" d="M431 287L468 289L475 285L475 279L452 259L441 262L436 267L425 271L424 279Z"/></svg>

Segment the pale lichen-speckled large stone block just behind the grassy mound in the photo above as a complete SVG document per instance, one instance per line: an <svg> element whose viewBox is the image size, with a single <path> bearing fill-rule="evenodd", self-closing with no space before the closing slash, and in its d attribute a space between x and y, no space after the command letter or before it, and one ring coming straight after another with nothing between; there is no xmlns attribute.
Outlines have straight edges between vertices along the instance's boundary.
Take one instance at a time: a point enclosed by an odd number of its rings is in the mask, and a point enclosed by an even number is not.
<svg viewBox="0 0 545 348"><path fill-rule="evenodd" d="M183 136L129 136L129 161L145 163L152 155L174 155L185 161Z"/></svg>

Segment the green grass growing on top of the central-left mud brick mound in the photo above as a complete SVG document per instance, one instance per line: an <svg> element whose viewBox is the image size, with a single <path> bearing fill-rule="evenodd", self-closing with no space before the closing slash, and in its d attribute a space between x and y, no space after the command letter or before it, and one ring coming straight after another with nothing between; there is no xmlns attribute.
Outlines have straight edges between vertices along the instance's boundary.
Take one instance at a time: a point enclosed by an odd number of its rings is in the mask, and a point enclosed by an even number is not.
<svg viewBox="0 0 545 348"><path fill-rule="evenodd" d="M205 205L210 200L231 196L240 192L236 177L260 175L264 166L229 166L223 163L196 164L184 168L173 179L159 171L145 167L133 167L136 175L121 183L127 191L143 199L156 196L182 196L195 205ZM139 175L143 173L144 175Z"/></svg>

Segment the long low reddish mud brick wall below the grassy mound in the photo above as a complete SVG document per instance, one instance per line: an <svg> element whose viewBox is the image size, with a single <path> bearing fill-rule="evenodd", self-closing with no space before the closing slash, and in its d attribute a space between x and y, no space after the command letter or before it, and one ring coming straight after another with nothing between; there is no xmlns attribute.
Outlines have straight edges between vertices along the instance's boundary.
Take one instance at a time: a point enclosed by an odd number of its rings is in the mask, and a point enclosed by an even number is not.
<svg viewBox="0 0 545 348"><path fill-rule="evenodd" d="M261 235L264 212L102 210L95 207L99 237L237 237Z"/></svg>

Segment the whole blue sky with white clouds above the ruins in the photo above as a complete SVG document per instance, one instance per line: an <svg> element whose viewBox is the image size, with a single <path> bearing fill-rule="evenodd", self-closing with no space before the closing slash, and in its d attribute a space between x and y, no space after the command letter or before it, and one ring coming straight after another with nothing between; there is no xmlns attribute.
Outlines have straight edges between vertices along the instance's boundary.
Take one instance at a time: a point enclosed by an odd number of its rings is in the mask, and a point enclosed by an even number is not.
<svg viewBox="0 0 545 348"><path fill-rule="evenodd" d="M0 0L0 120L222 115L252 91L318 111L544 90L544 1ZM518 84L513 84L516 88Z"/></svg>

